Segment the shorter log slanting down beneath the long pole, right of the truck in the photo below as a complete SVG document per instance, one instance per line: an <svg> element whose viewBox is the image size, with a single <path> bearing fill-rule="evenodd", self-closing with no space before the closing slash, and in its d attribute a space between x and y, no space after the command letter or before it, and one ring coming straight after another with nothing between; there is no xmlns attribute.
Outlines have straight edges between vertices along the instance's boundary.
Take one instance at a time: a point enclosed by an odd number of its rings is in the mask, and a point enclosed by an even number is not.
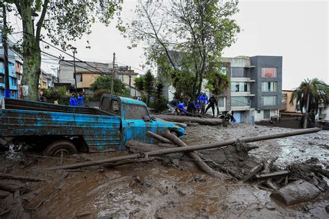
<svg viewBox="0 0 329 219"><path fill-rule="evenodd" d="M184 141L180 140L178 137L176 137L176 135L171 134L169 131L164 134L164 137L176 143L178 147L188 147ZM208 164L205 164L205 162L201 159L201 157L199 157L199 155L196 155L195 152L189 151L187 152L187 155L189 155L189 157L194 159L196 166L198 166L201 170L203 170L205 173L208 173L212 177L217 177L219 179L228 178L226 177L225 174L213 170L210 166L208 166Z"/></svg>

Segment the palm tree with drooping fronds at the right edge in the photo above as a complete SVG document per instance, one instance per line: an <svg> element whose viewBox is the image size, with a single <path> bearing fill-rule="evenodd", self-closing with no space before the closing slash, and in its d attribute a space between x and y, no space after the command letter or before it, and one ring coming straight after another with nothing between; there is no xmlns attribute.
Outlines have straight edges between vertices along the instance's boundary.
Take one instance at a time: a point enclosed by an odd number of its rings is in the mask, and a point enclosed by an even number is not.
<svg viewBox="0 0 329 219"><path fill-rule="evenodd" d="M292 93L290 103L294 104L296 100L296 109L305 108L305 119L303 128L307 128L307 117L310 113L317 114L319 104L323 103L325 107L329 103L329 85L318 78L305 79L298 88Z"/></svg>

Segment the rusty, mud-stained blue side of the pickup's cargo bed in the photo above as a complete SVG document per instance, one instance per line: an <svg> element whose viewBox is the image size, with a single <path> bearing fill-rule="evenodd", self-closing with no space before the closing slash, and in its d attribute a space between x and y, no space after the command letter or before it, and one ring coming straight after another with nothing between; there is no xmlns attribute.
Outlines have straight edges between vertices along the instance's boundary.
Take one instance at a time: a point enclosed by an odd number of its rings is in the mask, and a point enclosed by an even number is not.
<svg viewBox="0 0 329 219"><path fill-rule="evenodd" d="M121 117L89 107L5 99L0 136L78 136L90 151L121 148Z"/></svg>

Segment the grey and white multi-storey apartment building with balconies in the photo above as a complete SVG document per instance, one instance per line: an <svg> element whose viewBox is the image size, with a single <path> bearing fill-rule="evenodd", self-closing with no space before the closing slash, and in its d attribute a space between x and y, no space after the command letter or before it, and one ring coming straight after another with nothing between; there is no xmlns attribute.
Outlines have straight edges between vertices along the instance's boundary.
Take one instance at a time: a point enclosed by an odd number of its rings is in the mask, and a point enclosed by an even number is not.
<svg viewBox="0 0 329 219"><path fill-rule="evenodd" d="M177 55L176 55L177 56ZM174 61L180 58L173 56ZM230 88L219 96L221 112L233 111L238 123L254 123L279 116L282 99L282 57L257 55L221 58L221 73L230 78ZM202 91L210 96L210 91ZM174 87L164 89L171 100ZM212 112L208 111L212 114Z"/></svg>

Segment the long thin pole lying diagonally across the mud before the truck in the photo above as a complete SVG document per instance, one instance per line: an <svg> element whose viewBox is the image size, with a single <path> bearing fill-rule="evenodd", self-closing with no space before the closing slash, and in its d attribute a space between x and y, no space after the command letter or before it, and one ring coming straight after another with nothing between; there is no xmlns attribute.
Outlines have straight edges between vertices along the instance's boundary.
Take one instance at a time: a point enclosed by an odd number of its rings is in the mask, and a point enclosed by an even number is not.
<svg viewBox="0 0 329 219"><path fill-rule="evenodd" d="M96 165L101 165L105 163L113 163L117 161L122 161L125 159L137 159L137 158L142 158L142 157L154 157L158 155L169 155L177 152L189 152L189 151L194 151L194 150L205 150L205 149L210 149L210 148L221 148L225 146L230 146L233 145L235 142L240 141L240 142L253 142L253 141L264 141L268 139L279 139L283 137L289 137L289 136L294 136L294 135L300 135L300 134L309 134L313 132L319 132L321 129L320 128L309 128L309 129L303 129L303 130L296 130L292 132L285 132L285 133L280 133L280 134L268 134L264 136L258 136L258 137L250 137L250 138L244 138L244 139L232 139L228 141L222 141L222 142L217 142L217 143L208 143L205 145L199 145L199 146L187 146L187 147L182 147L182 148L167 148L167 149L162 149L162 150L155 150L155 151L150 151L142 154L135 154L135 155L124 155L120 157L110 157L108 159L101 159L99 161L85 161L81 162L78 164L70 164L66 166L56 166L52 168L47 168L46 170L57 170L57 169L72 169L72 168L82 168L86 166L96 166Z"/></svg>

